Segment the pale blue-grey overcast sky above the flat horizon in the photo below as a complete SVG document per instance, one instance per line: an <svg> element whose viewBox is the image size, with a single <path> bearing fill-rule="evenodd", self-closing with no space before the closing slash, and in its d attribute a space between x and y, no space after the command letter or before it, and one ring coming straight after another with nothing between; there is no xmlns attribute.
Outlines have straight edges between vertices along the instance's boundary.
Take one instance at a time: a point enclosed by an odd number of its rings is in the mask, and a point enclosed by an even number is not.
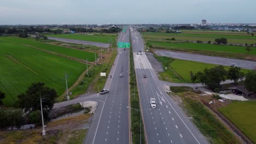
<svg viewBox="0 0 256 144"><path fill-rule="evenodd" d="M256 23L256 0L0 0L0 25Z"/></svg>

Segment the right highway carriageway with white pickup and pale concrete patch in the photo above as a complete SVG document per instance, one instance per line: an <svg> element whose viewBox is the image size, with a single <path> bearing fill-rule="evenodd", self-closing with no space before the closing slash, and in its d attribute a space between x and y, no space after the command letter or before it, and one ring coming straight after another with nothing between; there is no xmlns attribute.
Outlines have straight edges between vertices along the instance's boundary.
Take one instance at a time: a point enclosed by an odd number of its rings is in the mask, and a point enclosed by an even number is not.
<svg viewBox="0 0 256 144"><path fill-rule="evenodd" d="M164 91L158 82L144 51L141 35L131 29L133 58L147 143L208 143L200 131L185 116L181 107ZM142 55L137 52L142 51ZM146 74L148 77L143 78ZM155 98L156 109L150 109L150 98Z"/></svg>

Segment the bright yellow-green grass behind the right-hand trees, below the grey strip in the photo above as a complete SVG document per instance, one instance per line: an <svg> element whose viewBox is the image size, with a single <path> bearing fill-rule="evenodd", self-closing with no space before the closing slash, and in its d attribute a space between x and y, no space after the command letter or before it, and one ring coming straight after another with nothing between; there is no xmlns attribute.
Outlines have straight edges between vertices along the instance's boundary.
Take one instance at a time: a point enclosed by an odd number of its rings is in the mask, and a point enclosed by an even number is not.
<svg viewBox="0 0 256 144"><path fill-rule="evenodd" d="M159 73L160 79L168 82L179 82L179 83L192 83L190 79L190 71L196 73L202 71L205 68L216 67L216 64L208 64L194 61L185 61L182 59L173 59L170 57L161 57L155 55L155 58L162 63L164 72ZM165 69L167 67L167 70ZM225 70L228 70L228 66L224 66ZM241 69L243 73L250 71L249 69ZM198 81L195 81L195 83Z"/></svg>

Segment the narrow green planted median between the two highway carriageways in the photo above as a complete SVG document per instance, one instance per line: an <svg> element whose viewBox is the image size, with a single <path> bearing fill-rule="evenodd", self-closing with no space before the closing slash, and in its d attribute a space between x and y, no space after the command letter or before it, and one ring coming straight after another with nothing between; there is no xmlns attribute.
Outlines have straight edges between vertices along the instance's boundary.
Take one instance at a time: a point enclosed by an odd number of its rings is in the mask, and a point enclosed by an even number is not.
<svg viewBox="0 0 256 144"><path fill-rule="evenodd" d="M130 48L130 105L133 109L140 110L132 47ZM140 120L141 112L131 109L132 143L139 143L140 141ZM144 137L143 121L141 124L141 140L142 143L146 143Z"/></svg>

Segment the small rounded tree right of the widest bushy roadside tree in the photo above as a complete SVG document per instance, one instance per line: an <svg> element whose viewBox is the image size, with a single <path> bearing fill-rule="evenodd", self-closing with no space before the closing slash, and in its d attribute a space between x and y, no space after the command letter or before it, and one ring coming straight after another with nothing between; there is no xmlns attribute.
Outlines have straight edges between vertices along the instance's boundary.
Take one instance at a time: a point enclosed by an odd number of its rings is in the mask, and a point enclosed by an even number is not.
<svg viewBox="0 0 256 144"><path fill-rule="evenodd" d="M230 80L234 80L235 84L239 79L242 79L244 74L241 72L240 67L235 67L235 65L230 65L230 68L228 70L228 77Z"/></svg>

